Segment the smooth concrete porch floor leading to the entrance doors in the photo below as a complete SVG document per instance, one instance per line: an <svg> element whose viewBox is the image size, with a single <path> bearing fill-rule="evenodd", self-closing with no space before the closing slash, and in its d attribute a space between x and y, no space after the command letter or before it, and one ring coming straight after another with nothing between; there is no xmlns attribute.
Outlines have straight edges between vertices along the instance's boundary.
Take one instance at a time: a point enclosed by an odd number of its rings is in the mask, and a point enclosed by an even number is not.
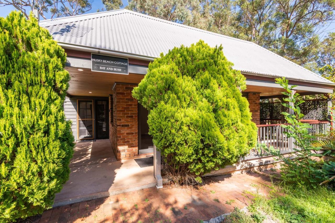
<svg viewBox="0 0 335 223"><path fill-rule="evenodd" d="M108 139L77 143L70 170L54 207L156 185L153 166L141 168L135 160L117 161Z"/></svg>

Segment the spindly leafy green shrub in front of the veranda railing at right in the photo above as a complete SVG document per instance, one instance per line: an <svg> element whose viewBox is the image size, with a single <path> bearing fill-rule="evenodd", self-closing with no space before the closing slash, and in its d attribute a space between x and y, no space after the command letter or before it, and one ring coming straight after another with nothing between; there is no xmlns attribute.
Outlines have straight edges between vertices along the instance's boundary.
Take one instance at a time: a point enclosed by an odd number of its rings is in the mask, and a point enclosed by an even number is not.
<svg viewBox="0 0 335 223"><path fill-rule="evenodd" d="M282 127L285 128L284 134L294 140L292 148L294 153L284 156L272 146L270 148L262 148L267 153L275 156L276 159L282 161L280 164L282 170L281 177L287 182L294 182L298 185L312 184L315 186L316 183L329 180L334 173L334 170L332 170L334 163L329 162L327 164L323 159L318 161L313 158L322 157L323 154L319 154L319 148L311 144L316 139L316 136L309 134L308 129L311 128L311 125L300 122L304 114L300 112L299 104L304 101L300 100L299 94L293 90L296 86L288 86L288 80L285 78L277 78L276 83L280 84L286 90L286 92L282 93L287 96L284 100L289 103L282 103L282 105L293 110L293 114L282 113L289 124L282 125Z"/></svg>

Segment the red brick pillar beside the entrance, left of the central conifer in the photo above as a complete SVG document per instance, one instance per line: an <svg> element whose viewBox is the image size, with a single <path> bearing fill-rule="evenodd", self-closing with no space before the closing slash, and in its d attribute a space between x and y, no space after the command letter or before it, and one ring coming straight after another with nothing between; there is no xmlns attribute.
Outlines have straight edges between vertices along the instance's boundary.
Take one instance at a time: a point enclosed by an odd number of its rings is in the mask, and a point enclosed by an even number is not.
<svg viewBox="0 0 335 223"><path fill-rule="evenodd" d="M137 85L116 83L113 87L113 124L110 141L118 160L138 155L137 100L131 91Z"/></svg>

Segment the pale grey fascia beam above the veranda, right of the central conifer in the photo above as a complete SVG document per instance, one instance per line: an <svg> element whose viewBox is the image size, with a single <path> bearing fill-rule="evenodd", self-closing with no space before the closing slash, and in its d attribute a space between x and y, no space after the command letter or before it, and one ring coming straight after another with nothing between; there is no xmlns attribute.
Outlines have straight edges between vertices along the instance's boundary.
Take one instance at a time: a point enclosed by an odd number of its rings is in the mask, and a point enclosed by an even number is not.
<svg viewBox="0 0 335 223"><path fill-rule="evenodd" d="M262 86L262 87L270 87L270 88L282 88L279 84L276 84L272 81L265 81L265 80L253 80L253 79L247 79L246 80L247 85L253 85L253 86ZM292 86L293 84L289 84L288 86ZM282 88L284 89L284 88ZM316 93L324 93L324 94L330 94L333 93L333 89L328 88L321 88L321 87L311 87L311 86L304 86L304 85L297 85L293 88L294 90L303 90L303 91L310 91L310 92L316 92Z"/></svg>

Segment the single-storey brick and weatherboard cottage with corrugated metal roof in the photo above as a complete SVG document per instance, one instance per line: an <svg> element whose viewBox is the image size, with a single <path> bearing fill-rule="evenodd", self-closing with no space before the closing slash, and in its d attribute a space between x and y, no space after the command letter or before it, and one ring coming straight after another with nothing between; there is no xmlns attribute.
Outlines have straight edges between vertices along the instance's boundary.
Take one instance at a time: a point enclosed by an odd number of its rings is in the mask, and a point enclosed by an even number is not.
<svg viewBox="0 0 335 223"><path fill-rule="evenodd" d="M131 92L150 61L174 47L199 40L211 47L222 44L225 57L246 77L247 89L242 93L257 125L260 99L282 97L275 78L286 77L301 95L330 94L335 85L255 43L126 9L43 20L40 25L67 53L65 69L71 80L64 111L72 121L75 140L109 138L118 160L154 152L148 111Z"/></svg>

